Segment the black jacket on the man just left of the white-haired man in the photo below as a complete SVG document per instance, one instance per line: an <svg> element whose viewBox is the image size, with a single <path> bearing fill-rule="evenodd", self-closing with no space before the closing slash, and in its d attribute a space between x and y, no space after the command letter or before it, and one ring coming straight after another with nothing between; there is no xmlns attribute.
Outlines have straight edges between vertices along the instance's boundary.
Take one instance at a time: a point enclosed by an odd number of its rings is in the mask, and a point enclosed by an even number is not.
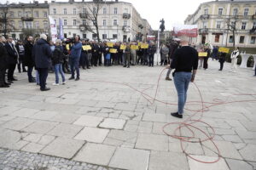
<svg viewBox="0 0 256 170"><path fill-rule="evenodd" d="M25 56L23 63L28 67L33 67L35 65L35 60L32 58L33 44L31 42L26 42L24 45Z"/></svg>

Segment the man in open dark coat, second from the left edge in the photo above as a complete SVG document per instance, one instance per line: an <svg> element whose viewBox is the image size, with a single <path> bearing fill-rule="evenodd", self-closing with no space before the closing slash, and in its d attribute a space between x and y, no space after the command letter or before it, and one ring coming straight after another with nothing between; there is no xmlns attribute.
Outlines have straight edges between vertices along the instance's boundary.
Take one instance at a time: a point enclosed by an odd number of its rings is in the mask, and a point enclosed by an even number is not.
<svg viewBox="0 0 256 170"><path fill-rule="evenodd" d="M18 60L18 54L12 42L13 42L13 38L9 37L5 44L5 48L9 55L9 58L8 58L9 66L8 66L8 76L7 76L9 83L14 83L13 81L17 81L17 79L14 78L14 73L15 73L15 67Z"/></svg>

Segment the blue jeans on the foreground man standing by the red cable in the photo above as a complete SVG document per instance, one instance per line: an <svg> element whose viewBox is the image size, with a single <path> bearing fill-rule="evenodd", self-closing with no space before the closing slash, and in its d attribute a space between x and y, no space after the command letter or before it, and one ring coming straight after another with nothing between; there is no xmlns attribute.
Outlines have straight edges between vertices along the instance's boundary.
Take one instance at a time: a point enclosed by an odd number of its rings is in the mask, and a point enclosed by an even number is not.
<svg viewBox="0 0 256 170"><path fill-rule="evenodd" d="M191 72L176 72L174 76L174 84L177 90L178 114L183 114L183 109L187 100L187 91L191 80Z"/></svg>

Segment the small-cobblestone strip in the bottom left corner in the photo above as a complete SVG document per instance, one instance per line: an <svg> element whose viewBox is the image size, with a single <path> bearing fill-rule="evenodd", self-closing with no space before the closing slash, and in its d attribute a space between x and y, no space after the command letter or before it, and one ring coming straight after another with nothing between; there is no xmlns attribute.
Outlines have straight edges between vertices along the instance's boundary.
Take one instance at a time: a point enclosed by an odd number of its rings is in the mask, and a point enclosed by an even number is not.
<svg viewBox="0 0 256 170"><path fill-rule="evenodd" d="M118 170L55 156L0 149L1 170Z"/></svg>

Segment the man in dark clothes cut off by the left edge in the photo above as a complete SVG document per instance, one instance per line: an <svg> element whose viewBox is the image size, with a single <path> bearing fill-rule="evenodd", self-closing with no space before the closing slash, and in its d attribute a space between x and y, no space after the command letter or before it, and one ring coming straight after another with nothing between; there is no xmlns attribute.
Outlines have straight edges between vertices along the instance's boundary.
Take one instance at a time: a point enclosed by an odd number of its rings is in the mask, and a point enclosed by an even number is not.
<svg viewBox="0 0 256 170"><path fill-rule="evenodd" d="M5 37L0 37L0 88L9 88L9 83L5 82L5 71L8 65L8 53L5 46Z"/></svg>

